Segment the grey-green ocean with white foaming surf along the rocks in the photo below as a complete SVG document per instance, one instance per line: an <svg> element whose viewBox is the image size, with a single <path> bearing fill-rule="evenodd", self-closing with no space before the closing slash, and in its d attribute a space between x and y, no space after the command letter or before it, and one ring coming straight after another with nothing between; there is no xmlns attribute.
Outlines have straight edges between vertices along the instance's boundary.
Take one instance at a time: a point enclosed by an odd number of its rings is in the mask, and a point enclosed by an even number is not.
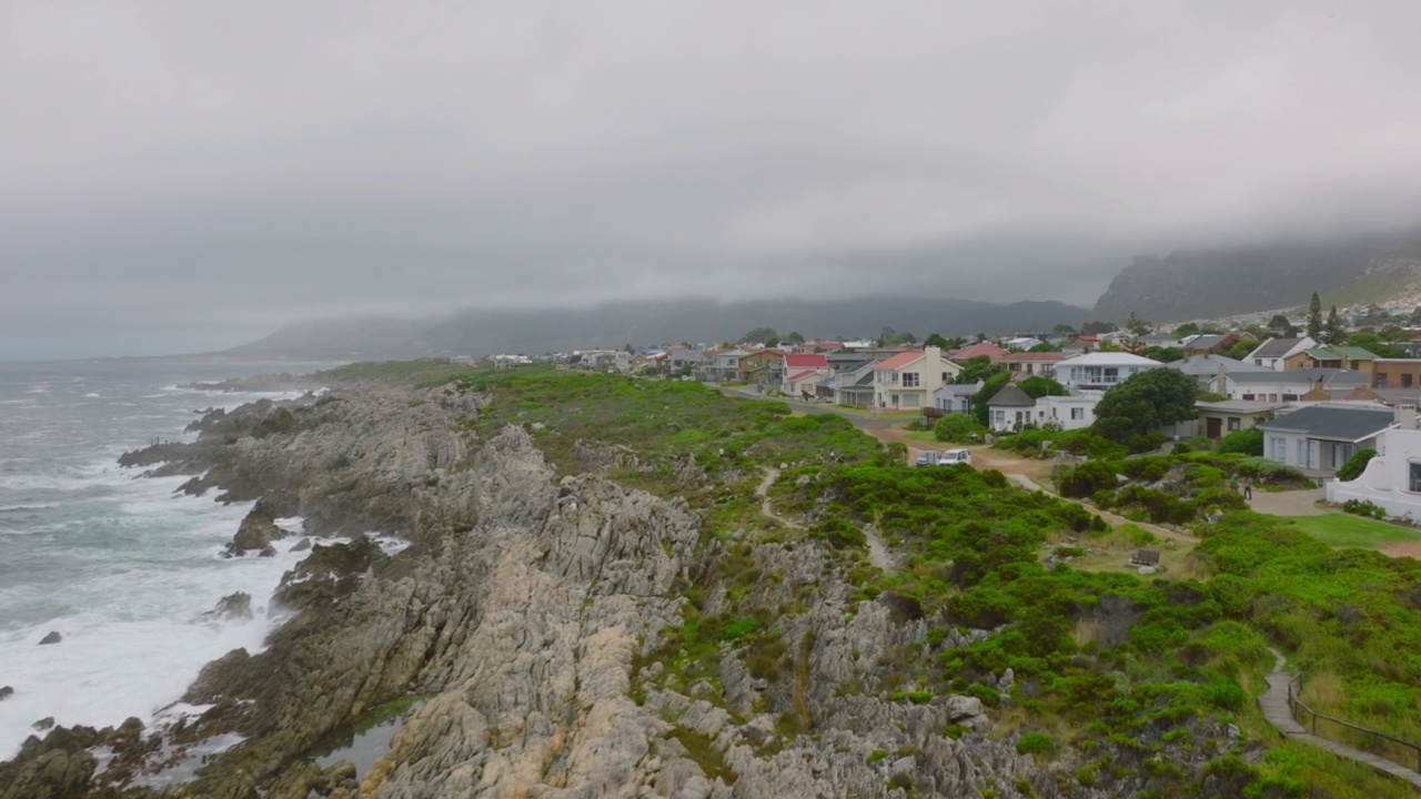
<svg viewBox="0 0 1421 799"><path fill-rule="evenodd" d="M0 363L0 759L31 725L145 724L171 707L203 664L259 651L280 618L267 599L301 554L223 559L252 503L175 493L186 478L145 479L118 456L183 428L209 407L274 394L178 388L328 364ZM279 522L291 532L300 519ZM254 618L203 616L223 596L252 594ZM50 631L58 644L40 645Z"/></svg>

